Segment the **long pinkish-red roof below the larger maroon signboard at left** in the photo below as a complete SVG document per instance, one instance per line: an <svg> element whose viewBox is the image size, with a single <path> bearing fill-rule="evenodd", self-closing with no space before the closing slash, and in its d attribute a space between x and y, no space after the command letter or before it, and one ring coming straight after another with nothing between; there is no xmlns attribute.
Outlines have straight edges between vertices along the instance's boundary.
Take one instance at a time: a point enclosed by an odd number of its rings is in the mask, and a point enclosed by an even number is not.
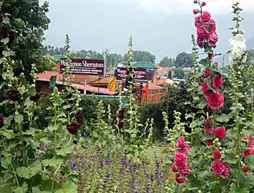
<svg viewBox="0 0 254 193"><path fill-rule="evenodd" d="M57 71L45 71L37 75L39 81L45 81L49 82L51 76L56 76L56 84L63 85L62 79L63 75L60 74ZM99 87L93 87L91 85L84 85L84 84L71 84L72 87L77 87L80 90L86 89L86 91L93 92L93 93L100 93L100 94L106 94L106 95L115 95L116 92L110 92L107 88L99 88Z"/></svg>

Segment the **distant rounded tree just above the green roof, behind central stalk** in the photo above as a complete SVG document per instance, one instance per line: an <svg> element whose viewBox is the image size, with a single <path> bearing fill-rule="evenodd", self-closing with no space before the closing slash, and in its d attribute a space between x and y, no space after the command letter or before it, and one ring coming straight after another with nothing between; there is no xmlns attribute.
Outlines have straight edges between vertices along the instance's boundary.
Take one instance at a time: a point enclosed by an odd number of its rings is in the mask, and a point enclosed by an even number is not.
<svg viewBox="0 0 254 193"><path fill-rule="evenodd" d="M135 62L148 61L148 62L151 62L152 64L154 64L156 57L154 55L152 55L150 52L136 50L136 51L133 51L133 59ZM125 62L128 61L128 54L124 55L123 61L125 61Z"/></svg>

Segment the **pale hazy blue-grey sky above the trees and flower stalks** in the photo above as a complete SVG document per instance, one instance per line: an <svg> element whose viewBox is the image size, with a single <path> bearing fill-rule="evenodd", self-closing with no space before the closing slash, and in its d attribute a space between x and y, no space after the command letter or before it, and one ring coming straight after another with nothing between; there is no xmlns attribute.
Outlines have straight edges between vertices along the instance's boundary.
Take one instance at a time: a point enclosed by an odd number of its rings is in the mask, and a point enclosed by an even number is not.
<svg viewBox="0 0 254 193"><path fill-rule="evenodd" d="M43 0L41 0L43 1ZM195 34L192 0L48 0L51 20L46 45L64 46L65 35L72 50L95 50L124 54L129 37L133 49L149 51L159 62L164 56L176 57L191 52ZM217 22L217 53L228 51L231 38L231 5L235 0L207 0L206 10ZM248 40L254 35L254 1L239 0L244 9L242 29Z"/></svg>

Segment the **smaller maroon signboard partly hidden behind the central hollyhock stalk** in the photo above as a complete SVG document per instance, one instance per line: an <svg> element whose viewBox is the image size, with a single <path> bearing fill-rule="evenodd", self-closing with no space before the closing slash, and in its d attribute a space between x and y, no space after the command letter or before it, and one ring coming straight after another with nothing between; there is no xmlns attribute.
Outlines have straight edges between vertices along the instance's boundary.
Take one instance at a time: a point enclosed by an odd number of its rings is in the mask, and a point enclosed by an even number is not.
<svg viewBox="0 0 254 193"><path fill-rule="evenodd" d="M128 68L118 67L116 69L117 80L126 80L128 77ZM134 68L134 79L135 80L146 80L146 69L145 68Z"/></svg>

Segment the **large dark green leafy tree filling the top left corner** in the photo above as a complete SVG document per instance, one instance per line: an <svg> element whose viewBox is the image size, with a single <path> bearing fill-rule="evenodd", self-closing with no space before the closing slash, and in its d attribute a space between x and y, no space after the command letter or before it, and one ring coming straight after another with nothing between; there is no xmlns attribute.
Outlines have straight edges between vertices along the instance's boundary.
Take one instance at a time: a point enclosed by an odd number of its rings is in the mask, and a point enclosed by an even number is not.
<svg viewBox="0 0 254 193"><path fill-rule="evenodd" d="M40 5L39 0L11 0L0 3L1 30L6 30L8 47L15 53L16 74L24 72L30 77L31 65L36 64L39 72L52 68L52 58L43 55L44 31L50 22L47 17L48 2Z"/></svg>

